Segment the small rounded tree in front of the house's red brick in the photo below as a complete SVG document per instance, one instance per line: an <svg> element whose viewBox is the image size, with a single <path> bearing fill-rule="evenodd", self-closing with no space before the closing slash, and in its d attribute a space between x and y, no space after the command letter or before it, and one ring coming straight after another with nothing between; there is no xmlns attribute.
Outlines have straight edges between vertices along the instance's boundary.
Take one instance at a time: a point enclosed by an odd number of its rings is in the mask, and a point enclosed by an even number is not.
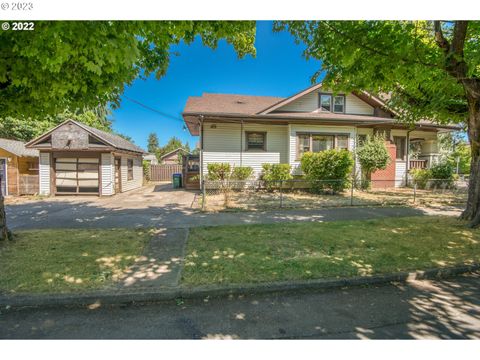
<svg viewBox="0 0 480 360"><path fill-rule="evenodd" d="M380 135L373 137L367 135L355 153L362 169L362 187L369 184L373 172L386 169L390 162L385 137Z"/></svg>

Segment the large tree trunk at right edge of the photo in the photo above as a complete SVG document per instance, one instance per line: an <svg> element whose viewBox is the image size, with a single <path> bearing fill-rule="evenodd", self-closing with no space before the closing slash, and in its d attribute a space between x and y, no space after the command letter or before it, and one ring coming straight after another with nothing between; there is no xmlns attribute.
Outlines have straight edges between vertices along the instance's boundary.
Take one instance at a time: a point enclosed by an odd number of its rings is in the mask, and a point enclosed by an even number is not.
<svg viewBox="0 0 480 360"><path fill-rule="evenodd" d="M460 218L470 221L470 226L480 224L480 99L468 97L468 139L470 141L472 160L470 163L470 180L468 184L467 207Z"/></svg>

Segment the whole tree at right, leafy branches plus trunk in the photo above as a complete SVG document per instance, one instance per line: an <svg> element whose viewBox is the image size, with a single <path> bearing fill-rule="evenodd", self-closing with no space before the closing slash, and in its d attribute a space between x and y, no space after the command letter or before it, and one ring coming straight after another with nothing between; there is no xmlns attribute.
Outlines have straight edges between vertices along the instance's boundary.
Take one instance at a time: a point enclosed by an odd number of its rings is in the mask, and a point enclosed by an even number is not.
<svg viewBox="0 0 480 360"><path fill-rule="evenodd" d="M480 224L480 22L284 21L322 61L327 87L389 93L401 121L459 123L471 145L468 201L461 217Z"/></svg>

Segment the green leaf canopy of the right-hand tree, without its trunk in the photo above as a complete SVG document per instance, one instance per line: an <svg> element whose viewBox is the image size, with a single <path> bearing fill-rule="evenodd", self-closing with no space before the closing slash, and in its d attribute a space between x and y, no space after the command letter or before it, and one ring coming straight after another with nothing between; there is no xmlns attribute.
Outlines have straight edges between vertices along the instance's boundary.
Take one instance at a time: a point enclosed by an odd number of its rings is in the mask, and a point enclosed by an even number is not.
<svg viewBox="0 0 480 360"><path fill-rule="evenodd" d="M443 23L447 38L453 26ZM339 91L388 94L389 106L405 121L430 118L439 123L465 122L468 114L462 85L445 70L446 56L431 21L280 21L306 45L307 58L321 60L313 76ZM470 22L464 58L468 76L480 75L480 22Z"/></svg>

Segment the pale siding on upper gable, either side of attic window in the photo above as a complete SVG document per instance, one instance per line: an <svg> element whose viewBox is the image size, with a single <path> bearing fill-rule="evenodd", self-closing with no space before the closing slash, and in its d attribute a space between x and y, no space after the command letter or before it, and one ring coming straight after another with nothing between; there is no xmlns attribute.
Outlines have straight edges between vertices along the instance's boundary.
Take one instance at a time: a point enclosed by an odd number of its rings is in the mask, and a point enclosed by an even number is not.
<svg viewBox="0 0 480 360"><path fill-rule="evenodd" d="M318 93L315 91L304 95L301 98L282 106L277 112L318 112ZM325 91L326 92L326 91ZM347 94L345 96L345 113L358 115L373 115L374 108L358 98L355 95Z"/></svg>

